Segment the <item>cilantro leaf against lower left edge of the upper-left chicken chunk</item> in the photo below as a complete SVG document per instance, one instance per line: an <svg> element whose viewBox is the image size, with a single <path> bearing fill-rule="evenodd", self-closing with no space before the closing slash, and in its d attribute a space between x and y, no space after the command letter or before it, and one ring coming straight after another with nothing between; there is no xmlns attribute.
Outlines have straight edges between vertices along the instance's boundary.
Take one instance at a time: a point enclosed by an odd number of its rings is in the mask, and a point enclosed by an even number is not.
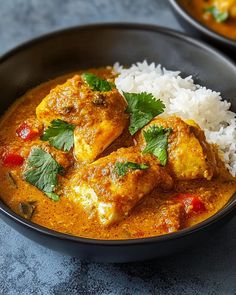
<svg viewBox="0 0 236 295"><path fill-rule="evenodd" d="M75 126L60 119L53 120L44 131L41 140L49 141L58 150L68 152L74 145Z"/></svg>

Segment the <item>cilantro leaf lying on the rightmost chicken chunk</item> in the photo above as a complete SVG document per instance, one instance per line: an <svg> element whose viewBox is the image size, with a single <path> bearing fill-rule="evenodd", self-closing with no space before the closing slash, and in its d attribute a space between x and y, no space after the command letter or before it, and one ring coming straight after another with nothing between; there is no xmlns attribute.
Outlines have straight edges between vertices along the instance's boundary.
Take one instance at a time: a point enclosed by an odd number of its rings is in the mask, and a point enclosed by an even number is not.
<svg viewBox="0 0 236 295"><path fill-rule="evenodd" d="M171 128L165 129L162 126L157 125L153 125L143 131L143 136L146 141L146 147L143 150L143 153L153 154L159 159L161 165L165 166L168 158L168 136L171 132Z"/></svg>

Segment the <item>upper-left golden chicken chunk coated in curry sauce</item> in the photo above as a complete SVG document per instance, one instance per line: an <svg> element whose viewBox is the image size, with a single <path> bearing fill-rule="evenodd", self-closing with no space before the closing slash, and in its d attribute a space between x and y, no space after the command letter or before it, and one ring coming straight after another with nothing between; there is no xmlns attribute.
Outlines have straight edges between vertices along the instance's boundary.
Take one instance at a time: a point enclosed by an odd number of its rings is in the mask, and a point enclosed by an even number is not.
<svg viewBox="0 0 236 295"><path fill-rule="evenodd" d="M56 86L36 109L40 122L48 126L61 119L76 125L74 155L92 162L124 130L126 102L117 89L93 91L80 75Z"/></svg>

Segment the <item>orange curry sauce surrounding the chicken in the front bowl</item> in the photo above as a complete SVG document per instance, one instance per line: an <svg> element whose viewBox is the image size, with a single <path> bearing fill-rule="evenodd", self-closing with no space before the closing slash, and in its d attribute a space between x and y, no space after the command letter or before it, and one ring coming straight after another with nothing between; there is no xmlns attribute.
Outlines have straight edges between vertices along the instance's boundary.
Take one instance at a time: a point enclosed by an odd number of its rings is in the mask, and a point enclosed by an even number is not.
<svg viewBox="0 0 236 295"><path fill-rule="evenodd" d="M97 70L97 72L99 71L106 72L107 70ZM10 148L11 150L20 151L20 154L24 157L24 146L35 146L41 143L39 136L27 142L22 141L16 135L16 130L25 120L34 120L35 108L49 93L50 89L58 84L62 84L71 76L72 74L59 77L28 91L5 113L0 121L1 152L3 149ZM133 139L126 130L101 156L107 155L121 146L128 147L132 144ZM235 180L223 170L222 174L224 174L224 177L219 176L211 181L176 182L173 191L161 192L154 190L150 195L143 198L142 202L130 212L129 216L117 224L103 227L95 217L89 219L79 204L75 205L66 196L61 196L58 202L54 202L36 187L25 182L22 179L22 167L4 167L2 162L0 165L1 198L13 211L21 214L19 210L20 202L33 201L36 204L31 218L34 223L59 232L96 239L117 240L150 237L192 226L212 216L222 208L236 189ZM9 177L9 172L11 177ZM63 186L64 178L69 177L70 173L71 171L69 170L64 177L60 177L60 186ZM162 208L163 204L168 207L168 200L171 199L171 204L173 205L175 203L173 198L180 193L197 195L204 202L206 210L185 217L184 221L182 220L181 226L178 226L179 220L177 218L179 216L175 217L175 212L170 210L168 214L173 213L171 218L172 220L176 218L177 227L173 224L173 228L168 228L166 224L160 226L160 208Z"/></svg>

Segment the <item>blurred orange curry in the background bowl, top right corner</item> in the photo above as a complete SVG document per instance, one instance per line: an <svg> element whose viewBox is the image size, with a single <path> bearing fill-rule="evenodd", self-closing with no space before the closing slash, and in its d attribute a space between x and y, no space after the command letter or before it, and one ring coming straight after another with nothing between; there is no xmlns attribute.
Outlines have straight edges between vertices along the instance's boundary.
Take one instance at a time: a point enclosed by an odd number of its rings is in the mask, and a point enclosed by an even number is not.
<svg viewBox="0 0 236 295"><path fill-rule="evenodd" d="M198 21L225 37L236 40L235 0L179 0Z"/></svg>

